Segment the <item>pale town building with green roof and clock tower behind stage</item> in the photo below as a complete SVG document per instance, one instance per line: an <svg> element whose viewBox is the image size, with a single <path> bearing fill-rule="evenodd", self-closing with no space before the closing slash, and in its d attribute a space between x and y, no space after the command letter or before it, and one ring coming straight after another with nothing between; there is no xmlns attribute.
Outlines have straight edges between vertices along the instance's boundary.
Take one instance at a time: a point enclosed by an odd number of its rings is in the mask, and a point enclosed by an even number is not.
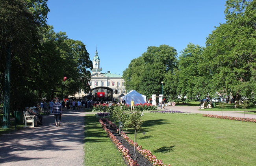
<svg viewBox="0 0 256 166"><path fill-rule="evenodd" d="M100 58L98 57L98 52L96 50L95 56L93 57L93 69L91 74L91 80L89 85L91 92L83 92L82 90L77 93L74 97L82 98L91 94L94 97L99 97L98 92L104 92L103 98L113 98L114 100L120 100L121 94L126 94L126 89L124 87L124 79L119 74L112 74L110 71L102 73L102 67L100 67ZM103 99L100 96L100 99Z"/></svg>

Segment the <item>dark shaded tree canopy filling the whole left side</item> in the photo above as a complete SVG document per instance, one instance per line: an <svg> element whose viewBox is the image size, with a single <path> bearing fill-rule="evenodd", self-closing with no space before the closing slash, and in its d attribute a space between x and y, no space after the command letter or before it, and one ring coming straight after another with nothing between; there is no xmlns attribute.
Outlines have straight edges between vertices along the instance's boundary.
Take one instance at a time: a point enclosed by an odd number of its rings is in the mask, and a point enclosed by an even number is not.
<svg viewBox="0 0 256 166"><path fill-rule="evenodd" d="M62 91L63 97L80 88L89 91L89 53L81 41L46 24L49 11L47 0L0 1L0 96L9 43L12 110L35 105L41 98L62 98Z"/></svg>

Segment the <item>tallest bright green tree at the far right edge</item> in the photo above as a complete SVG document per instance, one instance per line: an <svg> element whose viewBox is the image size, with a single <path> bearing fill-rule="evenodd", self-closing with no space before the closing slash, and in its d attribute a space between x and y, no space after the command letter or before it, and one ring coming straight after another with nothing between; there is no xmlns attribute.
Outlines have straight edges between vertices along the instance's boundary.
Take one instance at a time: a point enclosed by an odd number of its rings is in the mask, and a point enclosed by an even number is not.
<svg viewBox="0 0 256 166"><path fill-rule="evenodd" d="M256 1L228 0L226 23L208 36L204 56L213 89L252 99L256 76Z"/></svg>

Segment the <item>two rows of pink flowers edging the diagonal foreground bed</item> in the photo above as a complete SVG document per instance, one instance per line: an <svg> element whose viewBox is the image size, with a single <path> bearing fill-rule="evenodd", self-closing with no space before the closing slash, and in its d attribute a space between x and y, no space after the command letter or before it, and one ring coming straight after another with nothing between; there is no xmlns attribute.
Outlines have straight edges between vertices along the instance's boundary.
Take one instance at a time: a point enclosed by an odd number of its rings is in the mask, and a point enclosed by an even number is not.
<svg viewBox="0 0 256 166"><path fill-rule="evenodd" d="M106 119L106 123L109 123L113 129L115 129L117 132L119 131L117 125L115 125L114 123L112 123L111 121L109 121L108 119ZM100 124L102 125L103 128L106 128L106 124L104 124L104 122L102 120L100 120ZM108 135L109 135L109 129L104 129ZM110 132L111 133L111 132ZM135 144L133 140L131 140L125 133L121 132L122 134L122 137L132 146L136 146L136 149L139 153L141 153L141 155L143 155L145 158L148 159L148 161L150 161L152 163L153 166L167 166L166 164L163 164L162 160L158 160L156 159L156 156L155 155L152 155L151 151L149 150L146 150L146 149L143 149L141 146L138 146L137 143ZM111 133L111 136L109 135L109 137L111 138L112 137L112 133ZM111 138L112 139L112 138ZM116 138L115 138L116 139ZM113 139L112 139L113 140ZM114 142L114 141L113 141ZM115 143L115 142L114 142ZM116 144L117 146L117 144ZM127 151L127 150L126 150ZM123 154L124 155L124 154ZM129 156L130 157L130 156ZM129 158L129 160L133 161L132 159ZM137 163L135 163L137 164ZM133 165L131 165L133 166ZM168 166L171 166L170 164Z"/></svg>

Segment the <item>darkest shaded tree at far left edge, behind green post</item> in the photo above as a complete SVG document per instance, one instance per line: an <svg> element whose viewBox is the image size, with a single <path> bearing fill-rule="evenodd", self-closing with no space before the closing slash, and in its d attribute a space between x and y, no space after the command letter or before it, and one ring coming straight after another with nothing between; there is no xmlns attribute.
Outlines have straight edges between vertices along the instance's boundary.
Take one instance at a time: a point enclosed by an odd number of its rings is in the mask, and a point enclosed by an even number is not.
<svg viewBox="0 0 256 166"><path fill-rule="evenodd" d="M30 71L30 57L38 46L40 29L49 11L47 0L0 1L0 96L4 89L7 45L11 45L11 106L33 98L24 77ZM33 9L35 9L33 11ZM27 97L24 98L24 95Z"/></svg>

